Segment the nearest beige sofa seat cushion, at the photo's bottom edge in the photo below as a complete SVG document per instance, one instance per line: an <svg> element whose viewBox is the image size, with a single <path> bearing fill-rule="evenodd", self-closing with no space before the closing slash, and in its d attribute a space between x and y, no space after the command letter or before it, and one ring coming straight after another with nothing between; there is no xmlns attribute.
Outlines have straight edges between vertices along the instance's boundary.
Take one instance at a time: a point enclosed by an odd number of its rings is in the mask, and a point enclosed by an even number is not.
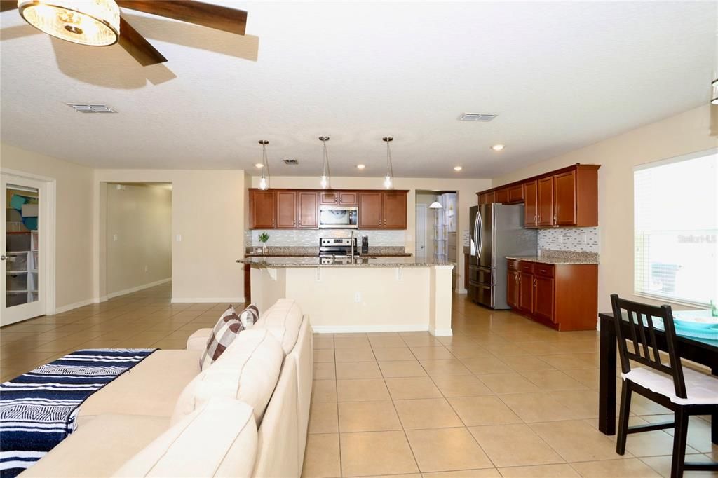
<svg viewBox="0 0 718 478"><path fill-rule="evenodd" d="M88 418L20 476L110 477L169 428L169 417L101 415Z"/></svg>

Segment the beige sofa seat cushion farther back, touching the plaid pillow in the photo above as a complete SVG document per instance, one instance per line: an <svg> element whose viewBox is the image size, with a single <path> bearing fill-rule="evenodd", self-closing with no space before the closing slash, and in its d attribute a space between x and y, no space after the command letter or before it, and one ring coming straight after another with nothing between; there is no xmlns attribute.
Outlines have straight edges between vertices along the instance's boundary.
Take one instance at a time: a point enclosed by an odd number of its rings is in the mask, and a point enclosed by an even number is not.
<svg viewBox="0 0 718 478"><path fill-rule="evenodd" d="M177 397L200 373L199 362L197 350L157 350L90 395L80 407L78 427L102 413L172 416Z"/></svg>

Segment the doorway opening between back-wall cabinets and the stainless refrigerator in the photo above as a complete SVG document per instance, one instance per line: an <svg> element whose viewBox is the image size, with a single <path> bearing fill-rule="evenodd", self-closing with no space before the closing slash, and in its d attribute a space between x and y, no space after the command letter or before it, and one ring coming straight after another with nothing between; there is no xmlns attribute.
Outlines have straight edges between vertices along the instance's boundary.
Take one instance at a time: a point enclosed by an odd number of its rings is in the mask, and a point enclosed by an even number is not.
<svg viewBox="0 0 718 478"><path fill-rule="evenodd" d="M456 191L416 191L416 256L456 263L452 290L457 289L458 220Z"/></svg>

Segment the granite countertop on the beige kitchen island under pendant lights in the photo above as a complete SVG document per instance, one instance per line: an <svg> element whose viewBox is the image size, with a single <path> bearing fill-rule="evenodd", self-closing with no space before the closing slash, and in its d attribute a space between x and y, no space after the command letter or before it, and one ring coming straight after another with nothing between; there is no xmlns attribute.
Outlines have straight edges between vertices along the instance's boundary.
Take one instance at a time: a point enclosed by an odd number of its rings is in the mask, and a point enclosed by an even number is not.
<svg viewBox="0 0 718 478"><path fill-rule="evenodd" d="M294 267L431 267L455 266L453 262L435 261L425 257L376 257L358 256L354 262L348 257L337 257L335 261L322 263L319 257L248 257L238 259L238 263L250 264L260 268L294 268Z"/></svg>

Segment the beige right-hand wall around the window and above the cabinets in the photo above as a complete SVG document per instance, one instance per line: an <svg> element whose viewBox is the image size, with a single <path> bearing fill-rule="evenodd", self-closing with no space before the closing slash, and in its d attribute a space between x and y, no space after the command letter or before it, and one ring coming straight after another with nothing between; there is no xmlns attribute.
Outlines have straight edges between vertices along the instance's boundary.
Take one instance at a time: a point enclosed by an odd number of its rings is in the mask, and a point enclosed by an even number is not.
<svg viewBox="0 0 718 478"><path fill-rule="evenodd" d="M610 310L610 294L633 296L633 167L717 147L716 136L710 136L710 109L710 106L701 106L541 161L493 179L493 186L575 163L601 165L599 309ZM650 302L645 298L635 299Z"/></svg>

